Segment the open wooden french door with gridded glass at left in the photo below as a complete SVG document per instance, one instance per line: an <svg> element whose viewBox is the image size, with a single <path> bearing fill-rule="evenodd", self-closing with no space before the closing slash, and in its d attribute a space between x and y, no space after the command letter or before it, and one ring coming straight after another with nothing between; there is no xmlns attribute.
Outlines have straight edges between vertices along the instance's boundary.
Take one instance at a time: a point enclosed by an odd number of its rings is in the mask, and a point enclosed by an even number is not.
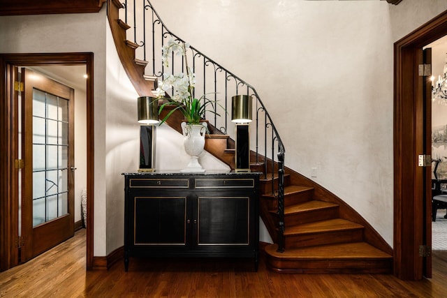
<svg viewBox="0 0 447 298"><path fill-rule="evenodd" d="M22 68L21 262L74 234L74 90Z"/></svg>

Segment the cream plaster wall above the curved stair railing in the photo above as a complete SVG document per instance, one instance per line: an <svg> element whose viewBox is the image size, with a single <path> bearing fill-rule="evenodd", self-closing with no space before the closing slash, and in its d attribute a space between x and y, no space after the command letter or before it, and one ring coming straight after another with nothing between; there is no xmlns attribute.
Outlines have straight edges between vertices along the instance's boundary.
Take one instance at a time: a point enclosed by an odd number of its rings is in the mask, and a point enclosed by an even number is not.
<svg viewBox="0 0 447 298"><path fill-rule="evenodd" d="M254 85L286 166L309 178L316 167L312 179L393 245L393 43L447 1L151 2L171 31Z"/></svg>

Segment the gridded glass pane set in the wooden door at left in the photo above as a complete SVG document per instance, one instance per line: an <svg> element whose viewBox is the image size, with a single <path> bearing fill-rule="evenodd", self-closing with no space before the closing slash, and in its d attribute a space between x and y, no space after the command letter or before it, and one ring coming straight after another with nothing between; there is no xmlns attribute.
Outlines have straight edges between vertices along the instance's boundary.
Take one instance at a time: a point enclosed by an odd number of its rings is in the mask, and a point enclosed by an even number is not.
<svg viewBox="0 0 447 298"><path fill-rule="evenodd" d="M33 226L68 214L68 100L33 89Z"/></svg>

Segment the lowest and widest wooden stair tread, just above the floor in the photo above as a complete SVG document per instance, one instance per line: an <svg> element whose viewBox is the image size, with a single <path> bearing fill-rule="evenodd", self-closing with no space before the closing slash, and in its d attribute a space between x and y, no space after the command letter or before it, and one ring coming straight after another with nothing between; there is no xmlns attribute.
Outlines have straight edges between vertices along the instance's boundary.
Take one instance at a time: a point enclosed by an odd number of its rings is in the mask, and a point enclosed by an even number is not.
<svg viewBox="0 0 447 298"><path fill-rule="evenodd" d="M321 246L309 246L303 248L286 249L284 253L277 252L277 244L265 246L265 253L279 259L290 260L317 260L317 259L391 259L378 248L366 242L326 244Z"/></svg>

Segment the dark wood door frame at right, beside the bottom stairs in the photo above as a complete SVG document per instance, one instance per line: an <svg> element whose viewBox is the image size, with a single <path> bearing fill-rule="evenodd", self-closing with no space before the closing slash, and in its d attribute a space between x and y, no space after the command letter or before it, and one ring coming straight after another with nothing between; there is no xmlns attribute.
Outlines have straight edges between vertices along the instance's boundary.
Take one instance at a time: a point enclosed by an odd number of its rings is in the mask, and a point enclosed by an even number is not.
<svg viewBox="0 0 447 298"><path fill-rule="evenodd" d="M394 44L394 273L404 280L423 278L425 221L431 221L431 204L423 214L422 167L418 154L423 130L423 92L418 84L420 50L447 34L447 10ZM431 131L431 128L427 130ZM429 187L429 186L427 186ZM430 200L431 201L431 200ZM426 231L429 232L429 231ZM430 231L431 234L431 231Z"/></svg>

